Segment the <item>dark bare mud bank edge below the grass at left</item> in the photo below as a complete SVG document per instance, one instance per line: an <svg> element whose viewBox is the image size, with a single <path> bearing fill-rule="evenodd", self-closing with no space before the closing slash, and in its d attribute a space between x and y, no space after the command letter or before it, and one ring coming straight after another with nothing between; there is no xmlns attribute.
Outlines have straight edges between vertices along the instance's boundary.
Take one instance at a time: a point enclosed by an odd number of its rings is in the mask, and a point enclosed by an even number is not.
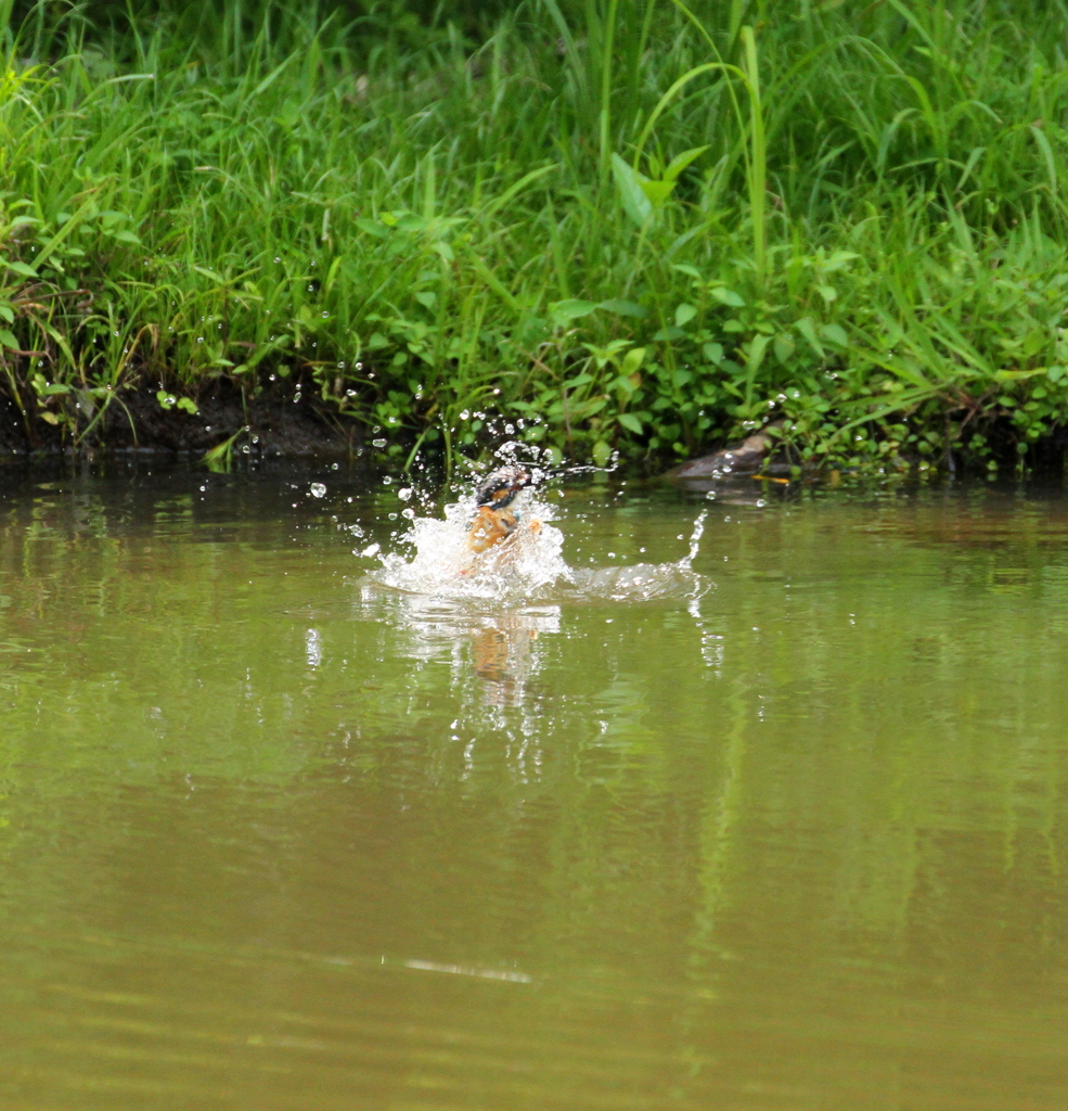
<svg viewBox="0 0 1068 1111"><path fill-rule="evenodd" d="M0 454L143 451L201 457L231 438L233 452L262 458L359 453L366 427L323 403L310 382L306 389L296 384L294 389L289 380L252 394L220 380L195 399L197 412L177 404L164 408L154 386L124 390L102 411L85 394L48 408L29 400L31 414L23 413L10 393L0 392Z"/></svg>

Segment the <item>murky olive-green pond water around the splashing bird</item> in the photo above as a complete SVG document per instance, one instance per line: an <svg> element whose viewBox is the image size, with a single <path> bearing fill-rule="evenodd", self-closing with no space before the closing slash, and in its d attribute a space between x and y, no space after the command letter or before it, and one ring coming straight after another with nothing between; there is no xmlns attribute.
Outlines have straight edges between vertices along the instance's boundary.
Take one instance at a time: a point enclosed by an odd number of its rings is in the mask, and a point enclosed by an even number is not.
<svg viewBox="0 0 1068 1111"><path fill-rule="evenodd" d="M4 1111L1068 1107L1059 490L0 484Z"/></svg>

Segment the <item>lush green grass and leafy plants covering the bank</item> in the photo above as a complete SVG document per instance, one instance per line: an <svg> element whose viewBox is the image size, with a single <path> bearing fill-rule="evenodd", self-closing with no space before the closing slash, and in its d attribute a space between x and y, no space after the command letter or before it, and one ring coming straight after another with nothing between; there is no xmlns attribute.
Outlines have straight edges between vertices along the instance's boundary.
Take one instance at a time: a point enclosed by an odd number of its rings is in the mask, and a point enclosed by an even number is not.
<svg viewBox="0 0 1068 1111"><path fill-rule="evenodd" d="M1068 412L1060 3L193 11L9 17L31 444L283 379L403 458L485 413L583 460L776 421L993 468Z"/></svg>

